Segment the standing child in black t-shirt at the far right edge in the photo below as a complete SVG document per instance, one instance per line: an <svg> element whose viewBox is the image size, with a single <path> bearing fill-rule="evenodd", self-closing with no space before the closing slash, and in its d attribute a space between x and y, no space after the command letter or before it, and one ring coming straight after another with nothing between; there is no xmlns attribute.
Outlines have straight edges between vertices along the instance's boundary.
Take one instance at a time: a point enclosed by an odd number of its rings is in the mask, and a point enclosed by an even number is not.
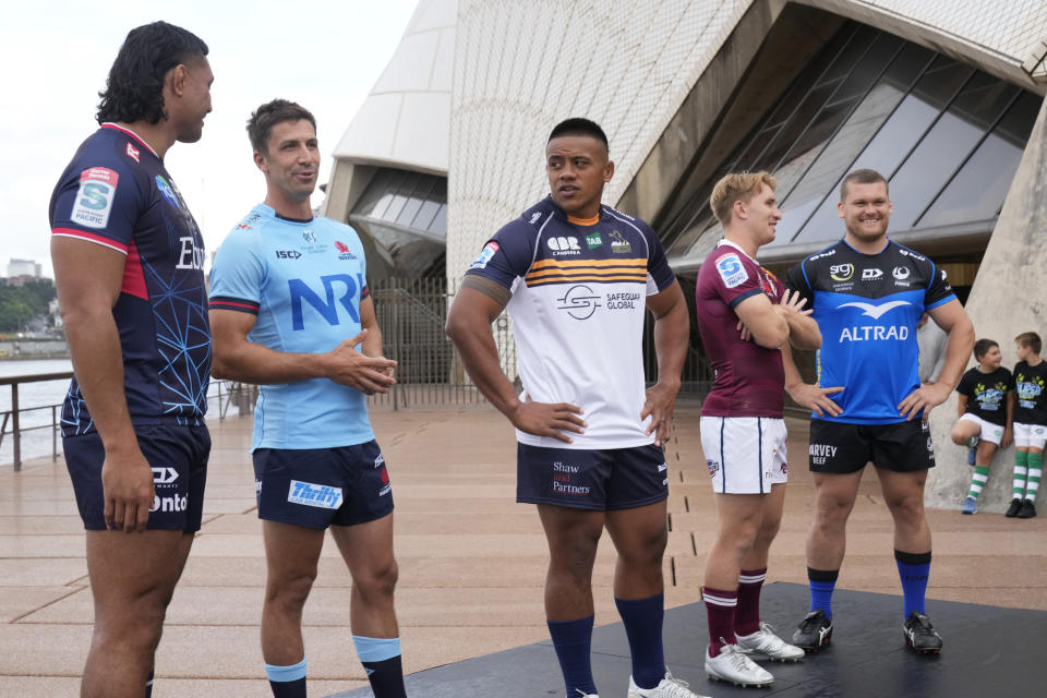
<svg viewBox="0 0 1047 698"><path fill-rule="evenodd" d="M1007 516L1030 519L1036 516L1036 491L1043 476L1044 444L1047 442L1047 361L1039 358L1043 345L1034 332L1014 338L1018 364L1014 387L1014 498Z"/></svg>

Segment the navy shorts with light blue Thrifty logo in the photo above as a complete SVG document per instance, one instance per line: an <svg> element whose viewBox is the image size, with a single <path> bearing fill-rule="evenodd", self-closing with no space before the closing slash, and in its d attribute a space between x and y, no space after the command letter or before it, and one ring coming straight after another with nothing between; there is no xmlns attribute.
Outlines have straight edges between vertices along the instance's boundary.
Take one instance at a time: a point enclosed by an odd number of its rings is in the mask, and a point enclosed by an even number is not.
<svg viewBox="0 0 1047 698"><path fill-rule="evenodd" d="M254 452L258 518L306 528L353 526L393 512L378 443Z"/></svg>

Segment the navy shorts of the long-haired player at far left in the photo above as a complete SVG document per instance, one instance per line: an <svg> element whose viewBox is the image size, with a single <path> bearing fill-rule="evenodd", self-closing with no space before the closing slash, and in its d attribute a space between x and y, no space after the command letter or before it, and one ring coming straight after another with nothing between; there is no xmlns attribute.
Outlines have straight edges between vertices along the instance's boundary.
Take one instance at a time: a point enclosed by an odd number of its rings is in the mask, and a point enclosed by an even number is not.
<svg viewBox="0 0 1047 698"><path fill-rule="evenodd" d="M153 468L153 486L156 490L146 528L181 530L185 533L198 531L204 510L207 457L210 455L207 428L203 424L136 424L134 432L142 455ZM63 436L62 448L84 528L89 531L106 530L106 501L101 490L101 466L106 449L101 436L97 432Z"/></svg>

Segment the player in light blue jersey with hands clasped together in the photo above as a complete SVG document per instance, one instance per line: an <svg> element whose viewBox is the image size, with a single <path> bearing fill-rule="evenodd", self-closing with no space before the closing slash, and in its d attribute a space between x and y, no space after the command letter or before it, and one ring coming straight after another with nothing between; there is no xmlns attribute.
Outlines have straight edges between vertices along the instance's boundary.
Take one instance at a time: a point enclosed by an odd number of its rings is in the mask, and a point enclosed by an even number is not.
<svg viewBox="0 0 1047 698"><path fill-rule="evenodd" d="M262 385L252 453L268 567L262 655L276 698L305 697L302 606L328 527L352 576L350 625L376 698L402 698L393 493L366 396L394 383L363 245L313 216L316 121L284 99L248 121L265 201L212 268L217 377Z"/></svg>

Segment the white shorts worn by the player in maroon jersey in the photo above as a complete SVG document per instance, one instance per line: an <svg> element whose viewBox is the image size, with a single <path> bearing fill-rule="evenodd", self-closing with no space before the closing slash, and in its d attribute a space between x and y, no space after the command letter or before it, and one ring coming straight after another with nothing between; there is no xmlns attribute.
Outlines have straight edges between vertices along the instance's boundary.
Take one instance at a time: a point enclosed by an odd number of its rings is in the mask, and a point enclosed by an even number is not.
<svg viewBox="0 0 1047 698"><path fill-rule="evenodd" d="M713 492L770 494L789 479L783 420L702 417L698 424Z"/></svg>

